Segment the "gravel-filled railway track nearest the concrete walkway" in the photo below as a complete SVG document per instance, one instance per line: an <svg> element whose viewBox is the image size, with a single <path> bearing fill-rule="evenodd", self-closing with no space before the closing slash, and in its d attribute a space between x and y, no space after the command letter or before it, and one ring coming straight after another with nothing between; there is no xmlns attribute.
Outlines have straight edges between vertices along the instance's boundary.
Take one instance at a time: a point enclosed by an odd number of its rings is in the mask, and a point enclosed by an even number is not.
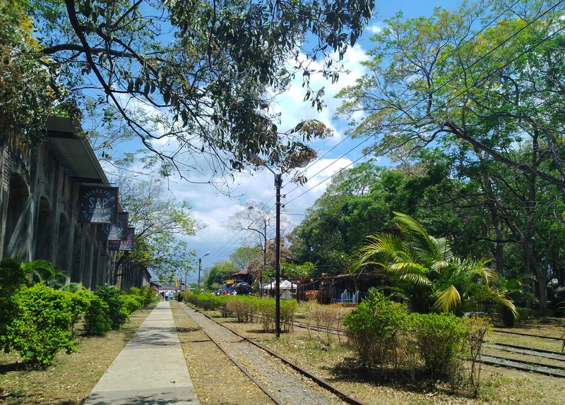
<svg viewBox="0 0 565 405"><path fill-rule="evenodd" d="M307 370L242 336L191 306L184 312L275 404L363 405Z"/></svg>

